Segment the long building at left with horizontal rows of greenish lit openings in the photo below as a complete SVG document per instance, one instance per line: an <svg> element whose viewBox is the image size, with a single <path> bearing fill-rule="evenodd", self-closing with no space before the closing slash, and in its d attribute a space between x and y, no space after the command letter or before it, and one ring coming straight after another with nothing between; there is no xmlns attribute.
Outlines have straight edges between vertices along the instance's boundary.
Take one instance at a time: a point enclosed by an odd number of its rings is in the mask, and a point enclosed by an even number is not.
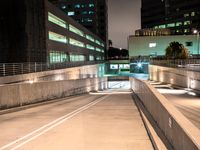
<svg viewBox="0 0 200 150"><path fill-rule="evenodd" d="M105 43L47 0L0 3L1 63L104 59Z"/></svg>

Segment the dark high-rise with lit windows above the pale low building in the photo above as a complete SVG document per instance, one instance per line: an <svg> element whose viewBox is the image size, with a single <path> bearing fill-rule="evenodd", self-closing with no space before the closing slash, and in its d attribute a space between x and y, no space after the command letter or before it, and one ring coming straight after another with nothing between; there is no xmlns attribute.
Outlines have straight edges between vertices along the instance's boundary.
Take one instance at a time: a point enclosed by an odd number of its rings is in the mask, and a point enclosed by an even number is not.
<svg viewBox="0 0 200 150"><path fill-rule="evenodd" d="M199 0L142 0L142 29L169 28L171 34L192 34L200 29Z"/></svg>

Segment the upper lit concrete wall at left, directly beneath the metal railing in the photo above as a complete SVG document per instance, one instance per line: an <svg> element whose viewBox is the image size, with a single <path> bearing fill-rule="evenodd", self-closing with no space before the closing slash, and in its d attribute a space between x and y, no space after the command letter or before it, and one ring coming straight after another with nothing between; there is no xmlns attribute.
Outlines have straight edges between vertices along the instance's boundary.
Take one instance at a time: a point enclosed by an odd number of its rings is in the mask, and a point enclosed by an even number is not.
<svg viewBox="0 0 200 150"><path fill-rule="evenodd" d="M63 80L87 78L88 75L93 78L98 76L98 70L101 64L80 66L66 69L57 69L43 72L35 72L21 75L0 77L0 84L16 83L23 81L53 81L57 78Z"/></svg>

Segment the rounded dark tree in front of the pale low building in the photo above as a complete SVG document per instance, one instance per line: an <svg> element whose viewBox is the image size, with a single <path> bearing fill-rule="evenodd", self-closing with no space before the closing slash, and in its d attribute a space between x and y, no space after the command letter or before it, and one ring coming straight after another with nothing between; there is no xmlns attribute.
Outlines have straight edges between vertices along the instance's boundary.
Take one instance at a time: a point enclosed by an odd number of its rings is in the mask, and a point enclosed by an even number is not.
<svg viewBox="0 0 200 150"><path fill-rule="evenodd" d="M165 56L169 59L186 59L188 58L188 49L179 42L171 42L165 49Z"/></svg>

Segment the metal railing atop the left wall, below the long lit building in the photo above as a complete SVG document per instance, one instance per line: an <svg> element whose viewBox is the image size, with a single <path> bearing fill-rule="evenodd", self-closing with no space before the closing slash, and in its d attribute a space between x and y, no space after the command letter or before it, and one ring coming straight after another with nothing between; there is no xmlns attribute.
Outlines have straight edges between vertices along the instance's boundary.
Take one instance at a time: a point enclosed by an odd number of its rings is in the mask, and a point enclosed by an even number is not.
<svg viewBox="0 0 200 150"><path fill-rule="evenodd" d="M103 61L66 62L66 63L0 63L0 77L64 69L85 65L104 63Z"/></svg>

